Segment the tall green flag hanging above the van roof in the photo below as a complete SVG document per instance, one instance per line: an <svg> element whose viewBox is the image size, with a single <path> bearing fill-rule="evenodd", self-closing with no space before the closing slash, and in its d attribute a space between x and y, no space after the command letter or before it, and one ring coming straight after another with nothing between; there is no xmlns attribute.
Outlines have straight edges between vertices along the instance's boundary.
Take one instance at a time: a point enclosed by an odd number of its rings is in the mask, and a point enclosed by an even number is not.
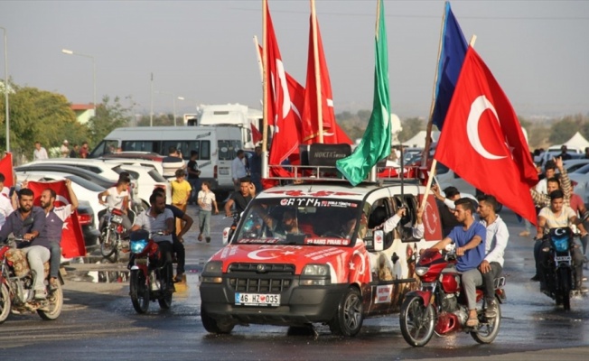
<svg viewBox="0 0 589 361"><path fill-rule="evenodd" d="M375 40L374 100L369 124L360 145L354 152L335 163L338 170L354 186L366 178L377 162L390 154L387 30L385 29L385 9L381 0L377 5Z"/></svg>

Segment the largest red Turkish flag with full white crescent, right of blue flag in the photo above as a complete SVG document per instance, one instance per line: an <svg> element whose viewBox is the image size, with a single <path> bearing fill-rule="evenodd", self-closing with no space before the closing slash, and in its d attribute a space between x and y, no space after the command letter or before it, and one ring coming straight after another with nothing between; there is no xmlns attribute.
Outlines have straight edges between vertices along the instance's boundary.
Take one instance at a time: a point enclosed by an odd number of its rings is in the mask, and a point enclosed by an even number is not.
<svg viewBox="0 0 589 361"><path fill-rule="evenodd" d="M434 158L475 188L536 224L529 189L538 172L518 116L479 55L469 47Z"/></svg>

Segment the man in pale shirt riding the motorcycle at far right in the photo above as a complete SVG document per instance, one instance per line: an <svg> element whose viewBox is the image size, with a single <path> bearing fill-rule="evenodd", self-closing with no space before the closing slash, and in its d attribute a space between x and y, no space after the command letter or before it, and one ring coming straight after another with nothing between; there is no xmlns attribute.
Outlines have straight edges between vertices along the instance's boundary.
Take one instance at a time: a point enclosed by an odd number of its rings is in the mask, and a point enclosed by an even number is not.
<svg viewBox="0 0 589 361"><path fill-rule="evenodd" d="M545 207L540 210L538 214L538 234L535 239L541 241L539 247L538 258L536 260L536 267L538 269L538 276L540 278L540 291L548 292L546 284L546 269L544 267L547 264L547 258L549 252L542 252L544 249L550 248L550 241L544 239L544 235L549 232L551 228L557 227L571 227L576 225L582 234L586 233L583 224L579 223L575 211L573 208L565 206L565 194L562 190L554 190L550 193L550 207ZM586 292L587 289L581 287L583 280L583 261L584 256L580 250L580 247L575 246L571 250L573 261L575 263L575 289L581 292Z"/></svg>

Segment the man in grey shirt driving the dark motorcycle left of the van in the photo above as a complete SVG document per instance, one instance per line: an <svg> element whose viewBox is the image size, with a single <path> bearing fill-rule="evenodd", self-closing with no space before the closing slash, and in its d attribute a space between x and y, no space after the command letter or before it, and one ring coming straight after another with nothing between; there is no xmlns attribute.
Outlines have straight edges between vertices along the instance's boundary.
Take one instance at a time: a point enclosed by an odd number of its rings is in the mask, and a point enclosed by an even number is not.
<svg viewBox="0 0 589 361"><path fill-rule="evenodd" d="M149 197L150 208L145 209L139 213L135 219L135 224L131 227L131 231L137 229L145 229L153 237L154 242L160 249L164 257L164 262L167 264L165 269L167 274L166 282L167 289L173 292L172 282L172 252L173 252L173 213L170 209L165 208L165 196L161 193L154 192ZM162 231L163 236L154 235L155 232Z"/></svg>

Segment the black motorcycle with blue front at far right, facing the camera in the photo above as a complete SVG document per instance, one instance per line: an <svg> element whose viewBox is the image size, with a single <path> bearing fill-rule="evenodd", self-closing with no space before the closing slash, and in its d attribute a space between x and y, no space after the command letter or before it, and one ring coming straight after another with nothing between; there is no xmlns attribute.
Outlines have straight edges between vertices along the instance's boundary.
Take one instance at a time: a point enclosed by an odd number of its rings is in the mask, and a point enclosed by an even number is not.
<svg viewBox="0 0 589 361"><path fill-rule="evenodd" d="M581 247L575 242L575 234L569 227L552 228L547 234L548 247L540 252L548 252L547 264L544 264L547 296L562 304L565 310L571 309L571 292L576 290L578 283L575 272L573 249Z"/></svg>

